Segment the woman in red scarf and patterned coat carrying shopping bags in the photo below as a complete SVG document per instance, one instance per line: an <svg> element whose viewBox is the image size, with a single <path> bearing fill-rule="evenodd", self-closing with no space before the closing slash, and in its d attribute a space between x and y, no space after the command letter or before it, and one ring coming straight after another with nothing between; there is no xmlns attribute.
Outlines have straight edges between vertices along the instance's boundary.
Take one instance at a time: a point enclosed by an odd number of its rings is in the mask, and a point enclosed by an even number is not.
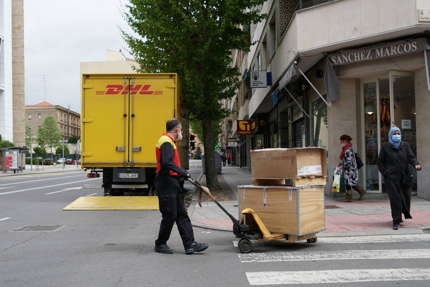
<svg viewBox="0 0 430 287"><path fill-rule="evenodd" d="M352 190L356 190L360 197L358 200L362 200L366 190L358 185L358 168L357 162L355 160L355 152L352 148L351 140L352 138L348 135L342 135L340 137L342 152L339 159L342 160L340 164L338 164L337 170L343 170L345 186L346 186L346 197L341 202L352 202Z"/></svg>

